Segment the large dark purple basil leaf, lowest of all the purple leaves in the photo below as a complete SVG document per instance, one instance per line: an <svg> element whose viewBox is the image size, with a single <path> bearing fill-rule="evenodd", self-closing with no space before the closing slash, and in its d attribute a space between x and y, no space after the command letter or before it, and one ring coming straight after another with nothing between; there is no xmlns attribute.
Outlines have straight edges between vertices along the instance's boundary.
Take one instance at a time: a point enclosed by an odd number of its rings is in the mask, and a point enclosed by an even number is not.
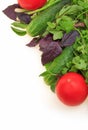
<svg viewBox="0 0 88 130"><path fill-rule="evenodd" d="M42 64L46 64L50 61L53 61L55 57L57 57L62 52L62 48L58 44L58 42L51 42L47 48L46 51L42 54Z"/></svg>

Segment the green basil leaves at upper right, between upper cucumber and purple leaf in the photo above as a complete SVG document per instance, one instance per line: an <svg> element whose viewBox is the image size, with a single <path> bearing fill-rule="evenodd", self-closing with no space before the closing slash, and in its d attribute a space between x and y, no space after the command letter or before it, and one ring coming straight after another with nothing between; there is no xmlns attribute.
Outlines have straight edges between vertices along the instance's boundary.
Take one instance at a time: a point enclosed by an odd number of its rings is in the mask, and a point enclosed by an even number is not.
<svg viewBox="0 0 88 130"><path fill-rule="evenodd" d="M57 13L54 22L48 22L45 32L53 34L53 40L61 39L64 32L75 30L77 23L85 23L88 26L88 0L73 0L71 5L64 6Z"/></svg>

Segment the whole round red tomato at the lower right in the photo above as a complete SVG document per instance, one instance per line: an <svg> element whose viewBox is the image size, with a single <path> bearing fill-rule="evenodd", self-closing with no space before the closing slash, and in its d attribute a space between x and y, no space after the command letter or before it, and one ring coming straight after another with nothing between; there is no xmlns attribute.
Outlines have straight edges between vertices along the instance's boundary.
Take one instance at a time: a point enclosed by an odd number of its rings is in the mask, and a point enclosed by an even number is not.
<svg viewBox="0 0 88 130"><path fill-rule="evenodd" d="M88 88L82 75L69 72L57 82L55 92L64 104L75 106L86 99Z"/></svg>

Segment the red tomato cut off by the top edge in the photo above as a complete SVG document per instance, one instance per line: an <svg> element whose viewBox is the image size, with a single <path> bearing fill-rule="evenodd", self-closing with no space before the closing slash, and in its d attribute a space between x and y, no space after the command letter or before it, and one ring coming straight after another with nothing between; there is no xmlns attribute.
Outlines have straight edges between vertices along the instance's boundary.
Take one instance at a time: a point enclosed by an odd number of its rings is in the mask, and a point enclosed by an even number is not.
<svg viewBox="0 0 88 130"><path fill-rule="evenodd" d="M26 10L36 10L46 2L47 0L18 0L19 5Z"/></svg>

